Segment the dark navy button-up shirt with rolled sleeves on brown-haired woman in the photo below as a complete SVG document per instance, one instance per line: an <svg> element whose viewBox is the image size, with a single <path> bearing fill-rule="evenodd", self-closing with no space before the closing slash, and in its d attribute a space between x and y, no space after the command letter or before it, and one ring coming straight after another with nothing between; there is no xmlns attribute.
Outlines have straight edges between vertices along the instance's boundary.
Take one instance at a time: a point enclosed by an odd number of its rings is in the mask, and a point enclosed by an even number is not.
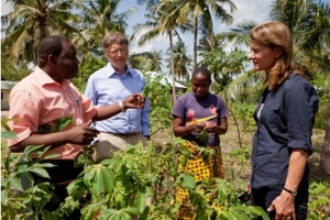
<svg viewBox="0 0 330 220"><path fill-rule="evenodd" d="M275 90L264 91L254 112L257 130L250 179L253 188L284 185L292 150L304 148L311 154L311 130L318 106L316 89L297 74L292 74ZM302 178L307 182L307 175Z"/></svg>

